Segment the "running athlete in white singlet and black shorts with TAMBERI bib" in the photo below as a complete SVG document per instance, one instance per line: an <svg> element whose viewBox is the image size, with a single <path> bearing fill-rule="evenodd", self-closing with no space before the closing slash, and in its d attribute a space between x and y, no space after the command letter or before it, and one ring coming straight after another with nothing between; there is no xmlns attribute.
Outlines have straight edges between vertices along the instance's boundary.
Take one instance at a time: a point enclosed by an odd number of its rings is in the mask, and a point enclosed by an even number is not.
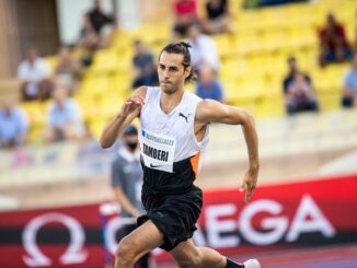
<svg viewBox="0 0 357 268"><path fill-rule="evenodd" d="M201 190L194 185L200 155L208 143L210 123L241 125L249 153L249 168L241 184L245 201L255 189L260 160L253 117L243 109L200 100L185 91L193 79L189 45L170 44L160 53L160 88L141 86L103 130L101 145L113 145L118 133L139 117L143 186L147 211L140 225L124 237L116 252L116 268L131 268L156 247L169 252L182 268L260 268L256 259L237 264L218 252L197 247L192 241L200 214Z"/></svg>

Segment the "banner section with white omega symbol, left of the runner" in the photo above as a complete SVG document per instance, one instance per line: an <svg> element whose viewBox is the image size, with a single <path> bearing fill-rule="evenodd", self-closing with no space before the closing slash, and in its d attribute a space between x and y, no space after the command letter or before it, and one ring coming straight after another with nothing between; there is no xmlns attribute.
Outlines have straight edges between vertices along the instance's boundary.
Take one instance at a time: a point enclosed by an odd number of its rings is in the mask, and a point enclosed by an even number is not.
<svg viewBox="0 0 357 268"><path fill-rule="evenodd" d="M100 267L100 226L97 203L0 213L0 267Z"/></svg>

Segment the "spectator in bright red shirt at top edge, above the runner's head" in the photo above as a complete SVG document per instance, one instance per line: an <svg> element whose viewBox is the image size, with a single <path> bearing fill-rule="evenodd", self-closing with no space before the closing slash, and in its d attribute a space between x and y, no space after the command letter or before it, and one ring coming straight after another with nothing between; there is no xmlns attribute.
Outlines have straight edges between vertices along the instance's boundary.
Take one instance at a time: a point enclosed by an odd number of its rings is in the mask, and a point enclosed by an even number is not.
<svg viewBox="0 0 357 268"><path fill-rule="evenodd" d="M177 35L186 36L188 27L197 23L197 1L175 0L174 1L175 25L174 32Z"/></svg>

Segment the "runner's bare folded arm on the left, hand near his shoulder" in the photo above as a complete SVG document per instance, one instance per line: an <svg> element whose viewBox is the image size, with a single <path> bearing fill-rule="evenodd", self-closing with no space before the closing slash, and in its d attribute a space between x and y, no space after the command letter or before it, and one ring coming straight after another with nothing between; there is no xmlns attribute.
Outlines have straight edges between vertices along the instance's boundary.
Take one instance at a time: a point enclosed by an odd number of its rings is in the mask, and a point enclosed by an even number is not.
<svg viewBox="0 0 357 268"><path fill-rule="evenodd" d="M141 86L126 100L120 112L105 126L102 132L100 139L102 148L112 147L124 129L140 114L146 94L147 88Z"/></svg>

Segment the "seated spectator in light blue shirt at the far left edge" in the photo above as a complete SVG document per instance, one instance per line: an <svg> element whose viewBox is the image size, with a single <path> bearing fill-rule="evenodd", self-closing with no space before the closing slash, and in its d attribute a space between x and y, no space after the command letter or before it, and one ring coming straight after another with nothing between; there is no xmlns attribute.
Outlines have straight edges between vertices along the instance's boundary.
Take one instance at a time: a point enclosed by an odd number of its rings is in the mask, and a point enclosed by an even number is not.
<svg viewBox="0 0 357 268"><path fill-rule="evenodd" d="M24 144L27 128L25 114L11 100L3 101L0 109L0 149Z"/></svg>

